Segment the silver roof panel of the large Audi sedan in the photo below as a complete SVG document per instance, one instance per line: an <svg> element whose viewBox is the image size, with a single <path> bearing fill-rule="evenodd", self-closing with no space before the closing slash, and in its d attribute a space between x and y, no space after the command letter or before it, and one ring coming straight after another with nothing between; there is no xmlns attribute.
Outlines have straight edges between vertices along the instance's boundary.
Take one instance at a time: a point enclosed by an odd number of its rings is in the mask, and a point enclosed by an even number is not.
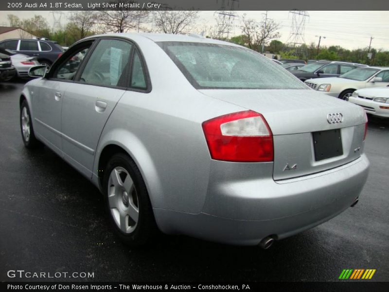
<svg viewBox="0 0 389 292"><path fill-rule="evenodd" d="M173 35L173 34L152 34L152 33L108 33L104 35L97 35L88 38L95 37L125 37L132 39L134 37L144 37L148 38L154 42L162 41L179 41L179 42L199 42L199 43L211 43L211 44L220 44L220 45L229 45L235 47L241 47L240 45L230 43L227 41L221 41L213 38L206 38L200 35L190 34L190 35Z"/></svg>

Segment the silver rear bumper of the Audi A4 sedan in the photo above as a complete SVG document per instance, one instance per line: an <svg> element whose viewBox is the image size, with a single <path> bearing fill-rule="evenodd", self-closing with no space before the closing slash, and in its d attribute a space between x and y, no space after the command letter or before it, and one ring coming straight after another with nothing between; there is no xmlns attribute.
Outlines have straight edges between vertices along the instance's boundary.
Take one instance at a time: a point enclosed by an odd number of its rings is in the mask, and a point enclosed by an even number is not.
<svg viewBox="0 0 389 292"><path fill-rule="evenodd" d="M368 170L369 161L362 155L349 164L297 179L216 181L209 185L201 213L154 209L155 216L165 233L256 245L269 235L292 236L347 209L359 196Z"/></svg>

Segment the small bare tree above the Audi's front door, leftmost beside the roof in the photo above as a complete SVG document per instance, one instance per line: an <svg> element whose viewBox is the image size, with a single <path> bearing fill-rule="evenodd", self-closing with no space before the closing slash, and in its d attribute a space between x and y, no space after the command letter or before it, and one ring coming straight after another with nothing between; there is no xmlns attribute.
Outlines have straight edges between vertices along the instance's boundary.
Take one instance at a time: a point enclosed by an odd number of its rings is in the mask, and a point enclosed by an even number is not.
<svg viewBox="0 0 389 292"><path fill-rule="evenodd" d="M71 13L67 27L77 40L82 39L90 34L95 19L96 14L92 11L75 11Z"/></svg>

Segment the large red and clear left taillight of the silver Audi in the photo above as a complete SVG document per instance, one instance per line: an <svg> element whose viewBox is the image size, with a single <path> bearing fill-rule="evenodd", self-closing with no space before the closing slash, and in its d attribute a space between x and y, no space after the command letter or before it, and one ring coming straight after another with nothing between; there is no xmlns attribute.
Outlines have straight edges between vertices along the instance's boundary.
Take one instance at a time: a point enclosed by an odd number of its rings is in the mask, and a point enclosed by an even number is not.
<svg viewBox="0 0 389 292"><path fill-rule="evenodd" d="M212 159L232 162L273 161L273 134L255 111L240 111L203 123Z"/></svg>

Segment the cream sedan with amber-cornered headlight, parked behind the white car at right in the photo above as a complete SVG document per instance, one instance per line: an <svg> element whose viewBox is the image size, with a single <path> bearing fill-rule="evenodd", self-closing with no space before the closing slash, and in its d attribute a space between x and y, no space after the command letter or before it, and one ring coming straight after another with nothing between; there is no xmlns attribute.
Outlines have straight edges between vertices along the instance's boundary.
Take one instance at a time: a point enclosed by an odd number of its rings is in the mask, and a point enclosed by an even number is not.
<svg viewBox="0 0 389 292"><path fill-rule="evenodd" d="M308 79L310 88L344 100L362 88L389 85L389 67L358 67L339 77Z"/></svg>

